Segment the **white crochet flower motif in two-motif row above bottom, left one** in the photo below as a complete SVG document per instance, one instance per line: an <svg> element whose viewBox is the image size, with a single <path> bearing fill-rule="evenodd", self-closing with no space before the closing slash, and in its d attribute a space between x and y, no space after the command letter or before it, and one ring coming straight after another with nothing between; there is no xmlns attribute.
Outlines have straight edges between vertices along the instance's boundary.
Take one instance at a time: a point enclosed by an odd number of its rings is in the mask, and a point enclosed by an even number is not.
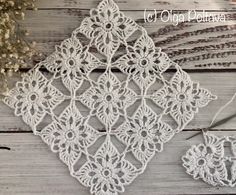
<svg viewBox="0 0 236 195"><path fill-rule="evenodd" d="M85 124L84 120L72 104L41 132L42 139L51 145L53 152L59 152L60 159L69 167L80 158L84 148L93 144L99 136L99 132Z"/></svg>

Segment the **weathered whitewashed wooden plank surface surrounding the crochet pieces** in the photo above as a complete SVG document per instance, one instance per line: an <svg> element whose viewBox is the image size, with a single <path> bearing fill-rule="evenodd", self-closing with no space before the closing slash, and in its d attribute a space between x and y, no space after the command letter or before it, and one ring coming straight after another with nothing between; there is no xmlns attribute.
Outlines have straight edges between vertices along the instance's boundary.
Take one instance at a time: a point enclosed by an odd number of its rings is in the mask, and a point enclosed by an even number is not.
<svg viewBox="0 0 236 195"><path fill-rule="evenodd" d="M27 11L22 23L30 31L29 40L37 42L37 50L49 55L88 16L89 9L98 0L37 0L38 11ZM189 72L193 80L200 81L218 100L201 109L187 126L165 145L146 172L132 185L126 187L126 195L157 194L236 194L236 188L211 187L195 181L181 166L181 156L192 144L202 142L201 135L194 135L200 127L207 127L214 113L236 92L236 4L229 0L119 0L116 1L127 16L144 26L171 59ZM144 23L143 12L187 9L208 13L224 13L225 23L184 22ZM39 59L38 59L39 60ZM29 65L29 68L32 65ZM14 78L14 84L19 78ZM220 118L236 112L236 100L220 115ZM213 133L236 136L236 119L217 127ZM0 103L0 195L89 195L69 175L67 167L52 154L39 137L32 134L13 111Z"/></svg>

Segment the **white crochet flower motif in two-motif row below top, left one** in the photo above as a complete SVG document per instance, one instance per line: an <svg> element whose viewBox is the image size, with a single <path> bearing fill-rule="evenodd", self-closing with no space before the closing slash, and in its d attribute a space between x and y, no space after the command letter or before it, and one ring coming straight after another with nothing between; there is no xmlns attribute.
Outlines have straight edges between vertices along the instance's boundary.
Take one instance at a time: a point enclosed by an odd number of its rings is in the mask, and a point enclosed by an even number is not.
<svg viewBox="0 0 236 195"><path fill-rule="evenodd" d="M63 84L70 90L77 90L83 83L83 76L102 65L94 55L84 52L78 39L66 39L56 52L41 62L50 72L59 72Z"/></svg>

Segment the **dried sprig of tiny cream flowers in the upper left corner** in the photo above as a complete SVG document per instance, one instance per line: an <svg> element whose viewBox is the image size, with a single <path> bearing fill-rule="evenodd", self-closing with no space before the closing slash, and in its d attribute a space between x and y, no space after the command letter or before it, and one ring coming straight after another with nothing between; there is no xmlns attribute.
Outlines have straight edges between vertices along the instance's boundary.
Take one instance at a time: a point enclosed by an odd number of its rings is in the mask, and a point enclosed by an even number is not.
<svg viewBox="0 0 236 195"><path fill-rule="evenodd" d="M25 39L29 33L20 28L26 9L36 9L35 0L0 0L0 92L7 90L6 78L25 68L35 43Z"/></svg>

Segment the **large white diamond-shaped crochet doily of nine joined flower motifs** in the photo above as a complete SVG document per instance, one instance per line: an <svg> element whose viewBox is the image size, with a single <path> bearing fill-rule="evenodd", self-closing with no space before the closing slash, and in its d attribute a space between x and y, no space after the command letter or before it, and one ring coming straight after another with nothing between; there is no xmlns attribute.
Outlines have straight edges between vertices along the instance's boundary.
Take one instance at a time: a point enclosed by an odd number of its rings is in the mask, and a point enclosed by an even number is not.
<svg viewBox="0 0 236 195"><path fill-rule="evenodd" d="M92 194L116 195L215 98L103 0L4 102Z"/></svg>

